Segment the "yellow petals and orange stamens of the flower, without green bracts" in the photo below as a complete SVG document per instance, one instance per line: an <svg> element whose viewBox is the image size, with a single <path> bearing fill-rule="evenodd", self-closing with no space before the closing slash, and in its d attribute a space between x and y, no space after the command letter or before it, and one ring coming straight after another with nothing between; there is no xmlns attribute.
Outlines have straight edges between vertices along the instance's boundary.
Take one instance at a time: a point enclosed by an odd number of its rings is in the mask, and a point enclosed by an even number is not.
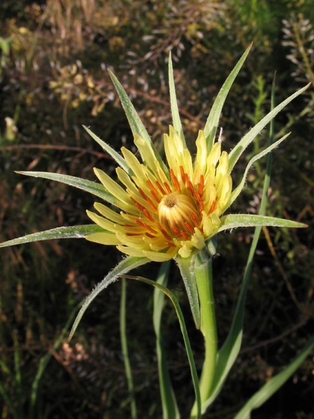
<svg viewBox="0 0 314 419"><path fill-rule="evenodd" d="M115 198L120 212L95 203L100 216L88 216L104 232L90 234L87 240L103 245L117 245L130 256L146 257L156 262L169 260L179 253L189 258L202 249L205 240L215 235L219 217L230 205L232 180L228 172L228 153L217 142L207 155L206 138L200 131L194 163L175 129L164 135L168 169L160 165L152 147L134 135L143 163L121 148L132 170L129 176L117 168L123 187L102 170L95 169L99 181Z"/></svg>

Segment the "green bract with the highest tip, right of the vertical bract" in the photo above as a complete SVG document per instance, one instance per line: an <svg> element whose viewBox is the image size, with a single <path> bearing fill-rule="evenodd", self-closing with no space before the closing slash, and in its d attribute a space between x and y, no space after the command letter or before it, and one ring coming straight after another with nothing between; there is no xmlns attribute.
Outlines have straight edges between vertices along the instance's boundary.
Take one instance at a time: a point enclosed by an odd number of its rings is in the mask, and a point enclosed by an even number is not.
<svg viewBox="0 0 314 419"><path fill-rule="evenodd" d="M247 57L247 54L249 54L250 49L252 48L252 45L253 44L251 43L250 46L244 52L243 56L241 56L237 65L231 71L226 82L224 82L223 86L221 87L217 95L217 98L215 99L215 102L212 106L212 109L210 109L210 113L208 115L208 118L204 127L204 134L206 137L206 144L207 144L207 152L210 152L210 150L213 148L213 144L214 144L216 133L217 133L217 127L219 124L219 118L220 118L221 110L224 106L224 102L234 82L234 79L237 77Z"/></svg>

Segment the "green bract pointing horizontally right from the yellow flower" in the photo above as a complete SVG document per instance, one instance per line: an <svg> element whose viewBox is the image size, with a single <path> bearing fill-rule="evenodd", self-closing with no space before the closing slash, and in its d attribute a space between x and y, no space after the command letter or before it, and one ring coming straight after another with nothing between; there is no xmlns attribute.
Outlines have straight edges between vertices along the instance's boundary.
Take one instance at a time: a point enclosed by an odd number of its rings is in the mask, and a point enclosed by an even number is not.
<svg viewBox="0 0 314 419"><path fill-rule="evenodd" d="M267 217L255 214L229 214L221 217L219 231L235 229L238 227L256 227L267 225L269 227L304 228L306 224L297 221L285 220L285 218Z"/></svg>

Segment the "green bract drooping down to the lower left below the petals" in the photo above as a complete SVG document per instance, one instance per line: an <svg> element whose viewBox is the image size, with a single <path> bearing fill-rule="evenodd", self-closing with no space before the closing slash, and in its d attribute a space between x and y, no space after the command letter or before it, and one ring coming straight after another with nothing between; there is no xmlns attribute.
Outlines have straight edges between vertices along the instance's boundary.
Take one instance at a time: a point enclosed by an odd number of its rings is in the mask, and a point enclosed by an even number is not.
<svg viewBox="0 0 314 419"><path fill-rule="evenodd" d="M93 301L93 299L95 299L95 297L97 297L97 295L101 293L101 291L107 288L108 285L112 284L112 282L117 281L119 276L125 273L128 273L129 271L131 271L131 269L141 267L141 265L147 262L150 262L150 260L147 258L134 258L133 256L128 256L128 258L121 260L121 262L117 265L117 267L112 269L112 271L110 271L108 275L105 276L104 280L99 282L99 284L93 289L90 295L86 297L83 306L81 307L79 313L77 314L77 317L74 321L74 324L72 326L72 329L69 335L69 341L71 341L77 326L80 324L80 321L85 311L87 310L88 306Z"/></svg>

